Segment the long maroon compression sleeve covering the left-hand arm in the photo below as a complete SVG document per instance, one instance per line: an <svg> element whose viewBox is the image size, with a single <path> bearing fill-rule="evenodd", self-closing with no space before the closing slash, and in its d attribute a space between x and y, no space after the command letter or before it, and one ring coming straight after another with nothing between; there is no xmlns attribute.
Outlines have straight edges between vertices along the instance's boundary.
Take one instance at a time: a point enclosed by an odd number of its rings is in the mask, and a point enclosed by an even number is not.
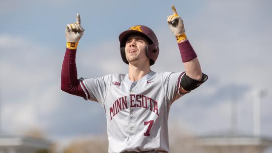
<svg viewBox="0 0 272 153"><path fill-rule="evenodd" d="M86 95L80 86L80 80L78 79L76 51L76 49L66 48L61 69L61 90L86 98Z"/></svg>

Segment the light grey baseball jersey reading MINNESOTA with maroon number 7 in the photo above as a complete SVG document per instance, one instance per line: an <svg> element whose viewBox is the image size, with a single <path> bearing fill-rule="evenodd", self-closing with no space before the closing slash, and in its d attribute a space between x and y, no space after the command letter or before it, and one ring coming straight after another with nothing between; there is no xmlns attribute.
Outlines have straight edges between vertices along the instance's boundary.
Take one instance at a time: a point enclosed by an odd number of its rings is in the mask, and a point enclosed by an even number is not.
<svg viewBox="0 0 272 153"><path fill-rule="evenodd" d="M105 110L109 152L169 151L168 114L185 72L151 71L138 81L128 74L81 78L86 99Z"/></svg>

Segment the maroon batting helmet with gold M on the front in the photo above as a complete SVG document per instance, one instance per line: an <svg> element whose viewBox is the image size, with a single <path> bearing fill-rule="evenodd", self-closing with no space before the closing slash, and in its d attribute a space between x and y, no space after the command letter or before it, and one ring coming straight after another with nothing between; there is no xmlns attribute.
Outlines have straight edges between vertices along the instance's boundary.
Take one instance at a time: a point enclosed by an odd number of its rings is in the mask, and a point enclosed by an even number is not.
<svg viewBox="0 0 272 153"><path fill-rule="evenodd" d="M123 62L129 64L126 58L125 46L127 39L132 34L139 34L149 42L149 45L145 48L145 54L146 57L150 59L150 65L153 65L159 56L159 42L155 33L149 27L144 25L135 25L119 35L120 52Z"/></svg>

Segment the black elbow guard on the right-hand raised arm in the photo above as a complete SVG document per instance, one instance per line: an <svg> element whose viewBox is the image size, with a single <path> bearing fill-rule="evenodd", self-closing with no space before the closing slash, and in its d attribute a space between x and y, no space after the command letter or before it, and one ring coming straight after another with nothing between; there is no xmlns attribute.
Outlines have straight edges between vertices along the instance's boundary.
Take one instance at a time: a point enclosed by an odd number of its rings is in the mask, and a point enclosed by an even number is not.
<svg viewBox="0 0 272 153"><path fill-rule="evenodd" d="M201 84L203 84L208 79L208 75L202 73L202 79L201 81L192 79L186 75L186 73L181 78L181 86L186 91L191 91L197 87L199 87Z"/></svg>

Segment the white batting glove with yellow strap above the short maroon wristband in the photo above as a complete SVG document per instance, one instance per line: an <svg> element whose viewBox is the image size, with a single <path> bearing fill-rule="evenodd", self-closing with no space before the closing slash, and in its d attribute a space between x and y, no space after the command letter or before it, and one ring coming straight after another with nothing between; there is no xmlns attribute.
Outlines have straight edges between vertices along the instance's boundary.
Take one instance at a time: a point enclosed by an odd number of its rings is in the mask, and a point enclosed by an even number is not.
<svg viewBox="0 0 272 153"><path fill-rule="evenodd" d="M172 5L173 14L167 17L167 22L169 29L176 36L177 41L180 42L183 39L186 39L185 28L183 20L178 15L176 8Z"/></svg>

